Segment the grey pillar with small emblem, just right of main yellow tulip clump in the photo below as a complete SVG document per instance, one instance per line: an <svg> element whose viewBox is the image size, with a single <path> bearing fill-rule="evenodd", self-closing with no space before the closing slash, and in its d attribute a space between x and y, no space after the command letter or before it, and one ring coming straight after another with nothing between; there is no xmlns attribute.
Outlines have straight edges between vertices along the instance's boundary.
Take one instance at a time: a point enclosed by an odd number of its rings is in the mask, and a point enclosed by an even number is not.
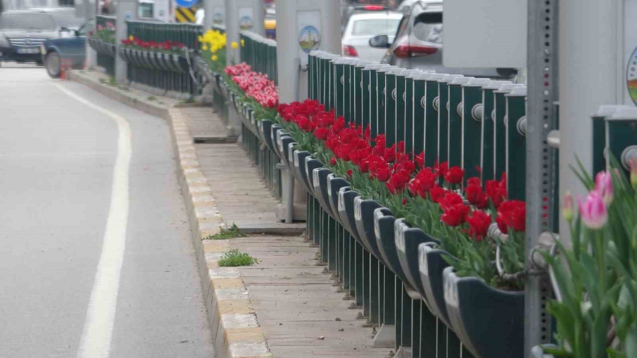
<svg viewBox="0 0 637 358"><path fill-rule="evenodd" d="M227 64L240 62L239 31L252 31L265 36L263 0L225 0L225 61ZM236 43L237 48L233 48Z"/></svg>

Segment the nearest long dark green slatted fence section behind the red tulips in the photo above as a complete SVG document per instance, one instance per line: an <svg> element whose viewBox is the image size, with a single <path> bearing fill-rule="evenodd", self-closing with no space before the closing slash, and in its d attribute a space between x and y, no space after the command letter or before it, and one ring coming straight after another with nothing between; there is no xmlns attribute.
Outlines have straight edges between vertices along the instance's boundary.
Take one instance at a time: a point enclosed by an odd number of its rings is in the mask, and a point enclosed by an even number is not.
<svg viewBox="0 0 637 358"><path fill-rule="evenodd" d="M345 122L369 125L372 136L385 134L388 146L404 141L406 152L418 154L424 150L426 166L448 161L483 182L506 172L508 196L524 200L523 85L313 52L309 57L308 92L311 98L343 115ZM348 203L347 193L348 189L338 193L339 205L341 201ZM392 262L403 255L416 268L420 266L420 271L426 269L419 262L419 254L424 255L419 241L409 236L411 231L402 220L378 203L355 199L357 224L364 226L366 220L369 224L366 215L373 217L372 237L365 238L370 233L361 230L364 227L352 227L338 212L326 210L317 192L308 195L308 203L308 234L321 247L322 259L354 297L355 304L362 306L369 323L384 333L395 333L397 350L427 358L471 357L484 351L476 348L470 334L454 329L452 322L427 300L419 289L420 277L410 276L404 266ZM397 238L403 240L402 246ZM393 255L383 254L378 248L388 241ZM519 338L522 335L520 332ZM520 345L521 349L521 342L492 344Z"/></svg>

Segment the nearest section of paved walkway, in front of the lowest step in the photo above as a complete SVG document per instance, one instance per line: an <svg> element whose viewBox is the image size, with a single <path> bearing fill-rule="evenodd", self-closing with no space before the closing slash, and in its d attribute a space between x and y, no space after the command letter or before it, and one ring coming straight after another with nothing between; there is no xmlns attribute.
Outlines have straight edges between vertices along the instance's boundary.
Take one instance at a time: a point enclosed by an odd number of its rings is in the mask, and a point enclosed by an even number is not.
<svg viewBox="0 0 637 358"><path fill-rule="evenodd" d="M317 248L298 236L235 238L231 245L259 259L240 268L274 357L386 357L371 347L372 330L316 266Z"/></svg>

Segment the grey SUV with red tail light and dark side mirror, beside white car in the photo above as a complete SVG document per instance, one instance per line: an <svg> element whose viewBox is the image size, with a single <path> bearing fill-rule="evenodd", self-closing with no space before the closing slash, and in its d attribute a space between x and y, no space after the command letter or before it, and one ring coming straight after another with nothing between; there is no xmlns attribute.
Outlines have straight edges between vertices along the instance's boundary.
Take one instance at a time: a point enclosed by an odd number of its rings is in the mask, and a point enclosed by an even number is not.
<svg viewBox="0 0 637 358"><path fill-rule="evenodd" d="M378 34L369 39L373 48L387 50L382 63L454 75L511 78L514 68L448 68L443 65L443 3L417 1L400 22L396 37Z"/></svg>

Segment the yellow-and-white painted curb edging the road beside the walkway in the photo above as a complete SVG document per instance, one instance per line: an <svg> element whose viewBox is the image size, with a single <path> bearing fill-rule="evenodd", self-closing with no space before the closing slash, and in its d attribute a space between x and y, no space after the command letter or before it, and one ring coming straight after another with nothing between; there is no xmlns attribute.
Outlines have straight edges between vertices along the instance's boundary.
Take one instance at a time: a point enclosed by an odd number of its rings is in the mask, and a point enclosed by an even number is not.
<svg viewBox="0 0 637 358"><path fill-rule="evenodd" d="M143 111L164 118L171 127L178 181L187 208L192 243L197 254L199 278L217 358L272 358L265 334L257 322L248 290L237 268L218 267L218 260L231 250L230 240L203 240L224 227L223 218L206 177L201 172L188 125L178 108L158 106L99 83L79 71L68 79Z"/></svg>

